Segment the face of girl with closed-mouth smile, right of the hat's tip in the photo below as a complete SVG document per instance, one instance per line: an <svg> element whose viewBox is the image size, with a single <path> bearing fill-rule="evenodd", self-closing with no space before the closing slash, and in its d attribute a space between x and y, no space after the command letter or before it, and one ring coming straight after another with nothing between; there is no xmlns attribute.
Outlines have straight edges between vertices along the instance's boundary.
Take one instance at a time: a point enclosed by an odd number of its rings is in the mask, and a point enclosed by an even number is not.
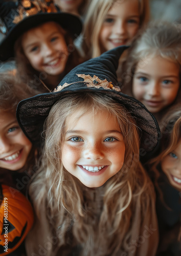
<svg viewBox="0 0 181 256"><path fill-rule="evenodd" d="M179 65L161 56L141 60L132 83L133 96L151 113L170 105L179 89Z"/></svg>

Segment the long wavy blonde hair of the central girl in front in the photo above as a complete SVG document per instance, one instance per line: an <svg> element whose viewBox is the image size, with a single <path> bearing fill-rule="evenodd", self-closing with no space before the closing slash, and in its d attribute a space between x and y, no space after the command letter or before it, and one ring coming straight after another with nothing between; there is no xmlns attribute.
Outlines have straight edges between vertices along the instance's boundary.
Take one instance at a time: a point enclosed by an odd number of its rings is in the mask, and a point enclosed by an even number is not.
<svg viewBox="0 0 181 256"><path fill-rule="evenodd" d="M126 147L123 167L103 185L103 208L98 219L86 207L83 195L85 186L67 172L61 162L61 144L67 119L80 111L81 116L102 111L114 116ZM42 205L47 206L47 216L56 229L59 246L66 245L71 227L76 244L82 247L82 255L116 255L120 248L127 248L135 231L132 230L131 220L134 218L134 223L137 223L133 212L141 202L144 215L152 188L139 161L140 136L134 119L124 106L104 94L72 93L65 95L52 107L43 136L42 165L30 185L30 196L39 218ZM93 220L96 220L95 224Z"/></svg>

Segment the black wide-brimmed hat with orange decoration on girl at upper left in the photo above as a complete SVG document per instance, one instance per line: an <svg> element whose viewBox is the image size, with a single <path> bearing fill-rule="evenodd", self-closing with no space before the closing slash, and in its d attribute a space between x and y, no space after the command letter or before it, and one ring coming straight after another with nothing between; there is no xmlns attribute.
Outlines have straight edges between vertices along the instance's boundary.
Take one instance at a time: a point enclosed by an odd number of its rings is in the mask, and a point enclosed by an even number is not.
<svg viewBox="0 0 181 256"><path fill-rule="evenodd" d="M17 38L33 27L46 22L56 22L76 38L82 23L79 17L63 13L54 5L53 0L19 0L18 2L0 0L2 33L6 34L0 44L0 60L14 57L14 44Z"/></svg>

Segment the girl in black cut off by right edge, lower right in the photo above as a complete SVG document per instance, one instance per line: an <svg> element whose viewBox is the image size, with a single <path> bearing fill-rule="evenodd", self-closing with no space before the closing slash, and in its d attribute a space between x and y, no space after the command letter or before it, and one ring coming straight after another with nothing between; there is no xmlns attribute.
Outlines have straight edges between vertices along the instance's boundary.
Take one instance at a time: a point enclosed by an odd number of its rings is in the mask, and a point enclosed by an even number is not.
<svg viewBox="0 0 181 256"><path fill-rule="evenodd" d="M156 255L179 256L181 251L181 104L162 120L161 152L151 160L157 188L160 245ZM165 254L164 254L165 253Z"/></svg>

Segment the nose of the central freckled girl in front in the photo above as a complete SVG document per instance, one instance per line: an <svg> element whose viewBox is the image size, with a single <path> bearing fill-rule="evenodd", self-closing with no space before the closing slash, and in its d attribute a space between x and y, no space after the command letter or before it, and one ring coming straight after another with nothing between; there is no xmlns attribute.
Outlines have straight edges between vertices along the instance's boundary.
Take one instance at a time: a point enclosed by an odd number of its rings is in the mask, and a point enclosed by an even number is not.
<svg viewBox="0 0 181 256"><path fill-rule="evenodd" d="M92 160L103 159L104 154L101 145L99 143L88 144L84 151L84 157Z"/></svg>

